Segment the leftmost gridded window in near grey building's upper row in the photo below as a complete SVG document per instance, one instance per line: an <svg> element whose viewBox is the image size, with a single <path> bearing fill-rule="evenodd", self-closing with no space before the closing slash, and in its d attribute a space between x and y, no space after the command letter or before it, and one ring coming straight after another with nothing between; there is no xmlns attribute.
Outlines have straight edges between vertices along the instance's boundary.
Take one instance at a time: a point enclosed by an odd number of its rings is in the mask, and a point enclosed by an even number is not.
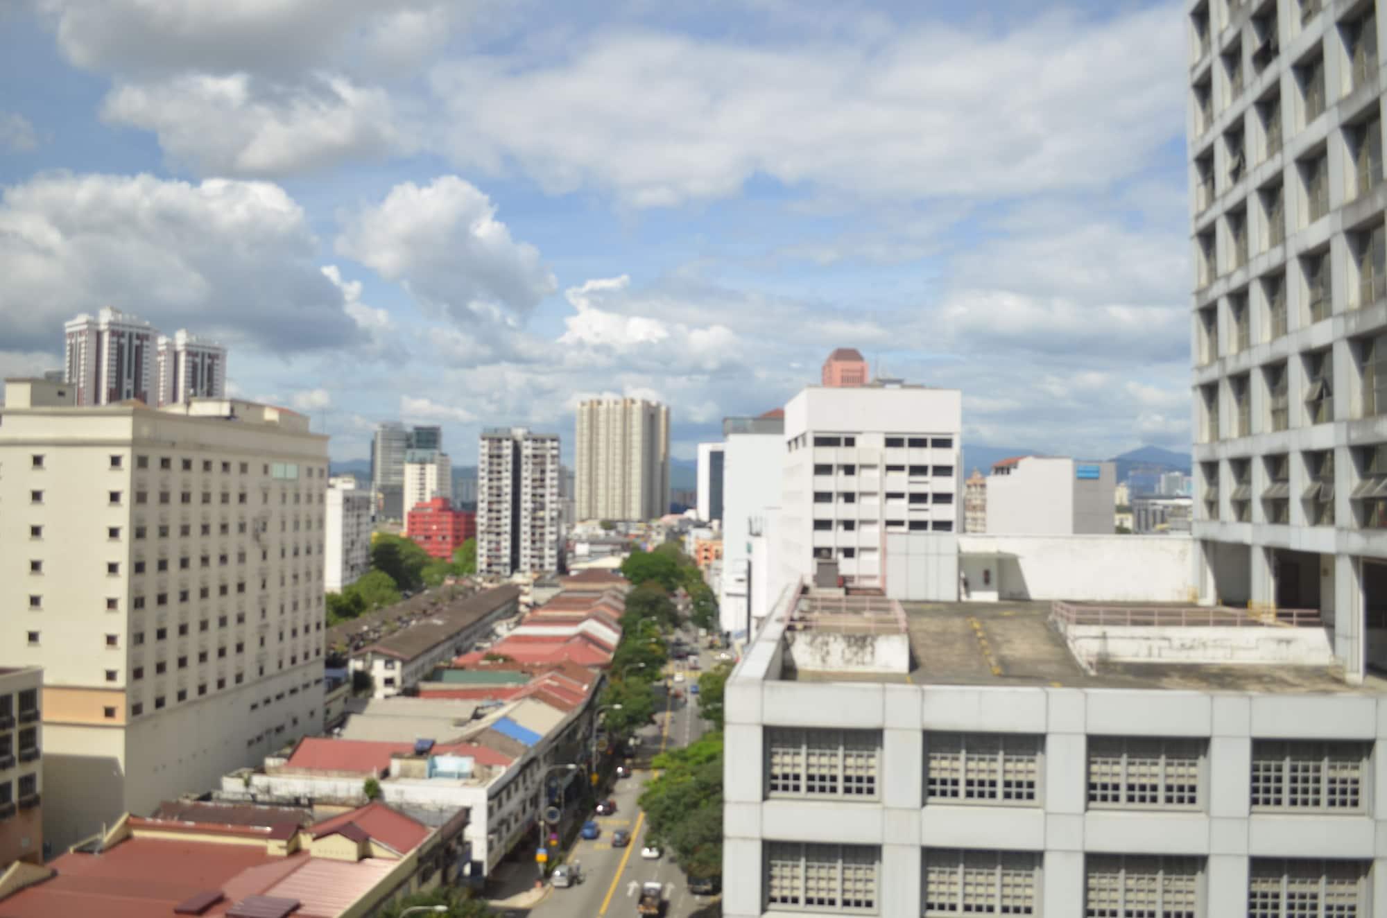
<svg viewBox="0 0 1387 918"><path fill-rule="evenodd" d="M766 728L767 795L875 797L881 731Z"/></svg>

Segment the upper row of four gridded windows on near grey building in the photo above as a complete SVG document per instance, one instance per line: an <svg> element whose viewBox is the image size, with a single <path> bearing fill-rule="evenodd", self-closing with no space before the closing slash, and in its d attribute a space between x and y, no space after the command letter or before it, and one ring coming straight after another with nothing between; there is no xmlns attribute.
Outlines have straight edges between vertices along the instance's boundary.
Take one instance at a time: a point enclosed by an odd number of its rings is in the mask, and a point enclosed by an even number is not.
<svg viewBox="0 0 1387 918"><path fill-rule="evenodd" d="M767 727L768 797L875 799L881 731ZM924 796L932 803L1039 806L1044 738L1026 734L924 736ZM1254 741L1254 810L1362 813L1369 743ZM1183 808L1207 804L1204 739L1090 736L1092 807Z"/></svg>

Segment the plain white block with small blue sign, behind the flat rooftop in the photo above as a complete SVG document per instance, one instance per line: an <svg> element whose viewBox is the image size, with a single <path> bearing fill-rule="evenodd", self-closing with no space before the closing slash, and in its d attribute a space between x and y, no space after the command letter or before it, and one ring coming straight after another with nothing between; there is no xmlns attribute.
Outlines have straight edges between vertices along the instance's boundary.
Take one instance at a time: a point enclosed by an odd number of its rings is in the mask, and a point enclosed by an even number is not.
<svg viewBox="0 0 1387 918"><path fill-rule="evenodd" d="M1117 466L1060 456L1017 456L986 481L986 532L1108 535L1115 526Z"/></svg>

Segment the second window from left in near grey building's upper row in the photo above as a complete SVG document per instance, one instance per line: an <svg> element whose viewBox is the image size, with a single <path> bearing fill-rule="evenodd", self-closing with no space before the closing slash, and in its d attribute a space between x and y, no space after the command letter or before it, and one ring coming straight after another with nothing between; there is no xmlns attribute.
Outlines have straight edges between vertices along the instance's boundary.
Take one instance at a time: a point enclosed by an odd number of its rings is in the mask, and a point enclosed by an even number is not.
<svg viewBox="0 0 1387 918"><path fill-rule="evenodd" d="M928 734L925 799L939 803L1035 804L1042 738L1019 734Z"/></svg>

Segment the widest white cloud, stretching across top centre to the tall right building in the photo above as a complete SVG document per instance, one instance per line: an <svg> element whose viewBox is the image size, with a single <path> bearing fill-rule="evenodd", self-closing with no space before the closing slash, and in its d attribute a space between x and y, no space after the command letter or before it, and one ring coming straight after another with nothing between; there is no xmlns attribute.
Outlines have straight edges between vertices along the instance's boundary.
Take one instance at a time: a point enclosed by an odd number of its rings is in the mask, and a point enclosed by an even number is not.
<svg viewBox="0 0 1387 918"><path fill-rule="evenodd" d="M571 47L440 65L454 159L634 207L728 197L759 173L874 200L997 198L1104 189L1183 125L1168 6L798 46L599 29Z"/></svg>

